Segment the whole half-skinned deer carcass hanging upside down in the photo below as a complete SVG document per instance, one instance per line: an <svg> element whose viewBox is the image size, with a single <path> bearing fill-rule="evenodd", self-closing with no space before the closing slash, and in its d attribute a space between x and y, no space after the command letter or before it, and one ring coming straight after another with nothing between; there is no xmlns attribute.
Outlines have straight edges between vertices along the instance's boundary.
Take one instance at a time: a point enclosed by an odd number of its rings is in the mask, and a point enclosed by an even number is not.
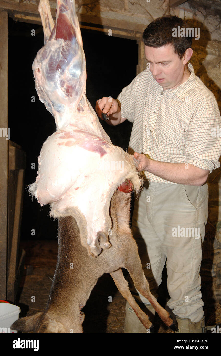
<svg viewBox="0 0 221 356"><path fill-rule="evenodd" d="M85 96L85 57L75 4L57 0L55 24L48 0L40 1L39 11L45 45L32 68L38 96L53 114L57 131L42 146L30 192L41 205L50 204L51 216L58 218L58 264L46 311L16 321L13 329L82 332L81 309L98 278L108 272L150 329L151 321L132 298L122 267L170 326L169 314L149 292L128 225L128 192L132 185L139 190L142 179L133 156L112 145ZM111 162L118 162L119 169L110 169Z"/></svg>

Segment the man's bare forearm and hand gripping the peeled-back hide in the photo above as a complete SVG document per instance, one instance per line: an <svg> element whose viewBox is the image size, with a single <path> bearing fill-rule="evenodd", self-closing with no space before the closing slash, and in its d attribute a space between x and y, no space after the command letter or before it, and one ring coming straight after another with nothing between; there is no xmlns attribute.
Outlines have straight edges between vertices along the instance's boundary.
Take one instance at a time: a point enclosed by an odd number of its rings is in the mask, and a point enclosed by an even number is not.
<svg viewBox="0 0 221 356"><path fill-rule="evenodd" d="M185 185L202 185L209 175L208 169L201 169L190 163L168 163L148 159L145 155L134 155L140 160L139 171L147 171L169 182Z"/></svg>

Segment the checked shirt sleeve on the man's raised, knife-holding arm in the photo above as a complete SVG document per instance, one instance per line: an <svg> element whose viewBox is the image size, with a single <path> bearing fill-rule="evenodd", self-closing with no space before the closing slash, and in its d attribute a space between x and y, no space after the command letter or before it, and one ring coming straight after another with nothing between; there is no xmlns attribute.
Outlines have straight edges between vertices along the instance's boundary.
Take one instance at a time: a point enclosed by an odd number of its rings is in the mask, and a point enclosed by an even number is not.
<svg viewBox="0 0 221 356"><path fill-rule="evenodd" d="M127 85L117 96L121 104L121 117L126 117L128 121L133 122L135 112L135 84L136 78Z"/></svg>

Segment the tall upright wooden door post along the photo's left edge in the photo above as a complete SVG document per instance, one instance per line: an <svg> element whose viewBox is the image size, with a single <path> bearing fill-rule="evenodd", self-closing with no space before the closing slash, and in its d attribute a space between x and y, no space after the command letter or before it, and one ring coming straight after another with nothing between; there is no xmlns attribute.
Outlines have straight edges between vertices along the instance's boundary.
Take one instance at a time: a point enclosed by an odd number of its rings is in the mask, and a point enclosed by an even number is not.
<svg viewBox="0 0 221 356"><path fill-rule="evenodd" d="M8 127L8 14L0 12L0 128ZM2 136L2 130L0 131ZM7 210L8 210L8 146L0 137L0 299L7 290Z"/></svg>

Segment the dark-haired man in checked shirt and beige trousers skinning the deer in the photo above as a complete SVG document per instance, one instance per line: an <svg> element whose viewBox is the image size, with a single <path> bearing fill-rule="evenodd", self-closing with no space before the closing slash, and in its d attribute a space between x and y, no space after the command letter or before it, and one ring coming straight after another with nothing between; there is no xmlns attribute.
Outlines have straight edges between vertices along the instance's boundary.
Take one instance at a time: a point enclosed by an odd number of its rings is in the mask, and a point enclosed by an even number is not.
<svg viewBox="0 0 221 356"><path fill-rule="evenodd" d="M172 35L178 26L188 27L177 16L164 16L147 26L142 39L149 68L117 101L99 99L96 112L100 117L107 113L110 125L133 122L128 153L140 161L138 170L146 178L132 219L143 270L157 297L167 260L167 304L179 332L202 333L199 272L208 212L206 180L220 166L221 138L212 132L221 127L221 117L214 95L188 64L192 38ZM147 314L154 314L134 286L131 291ZM146 332L128 303L125 332Z"/></svg>

